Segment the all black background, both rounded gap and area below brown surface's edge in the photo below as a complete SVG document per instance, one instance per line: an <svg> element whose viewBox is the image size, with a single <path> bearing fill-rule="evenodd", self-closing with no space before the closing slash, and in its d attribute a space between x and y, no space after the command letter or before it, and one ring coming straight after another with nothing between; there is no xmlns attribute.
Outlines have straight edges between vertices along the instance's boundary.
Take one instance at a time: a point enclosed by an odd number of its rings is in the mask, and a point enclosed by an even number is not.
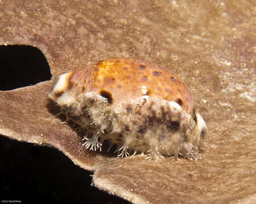
<svg viewBox="0 0 256 204"><path fill-rule="evenodd" d="M46 58L32 46L0 46L0 90L51 79ZM21 203L130 203L91 186L92 172L51 147L0 135L0 200Z"/></svg>

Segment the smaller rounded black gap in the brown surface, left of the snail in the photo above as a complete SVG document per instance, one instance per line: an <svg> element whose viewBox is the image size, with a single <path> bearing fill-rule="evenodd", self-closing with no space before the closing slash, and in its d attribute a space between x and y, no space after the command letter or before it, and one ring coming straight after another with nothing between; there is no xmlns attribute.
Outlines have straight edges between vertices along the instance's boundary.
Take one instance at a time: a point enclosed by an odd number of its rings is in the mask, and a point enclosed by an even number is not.
<svg viewBox="0 0 256 204"><path fill-rule="evenodd" d="M44 54L33 46L0 45L0 90L13 90L51 79Z"/></svg>

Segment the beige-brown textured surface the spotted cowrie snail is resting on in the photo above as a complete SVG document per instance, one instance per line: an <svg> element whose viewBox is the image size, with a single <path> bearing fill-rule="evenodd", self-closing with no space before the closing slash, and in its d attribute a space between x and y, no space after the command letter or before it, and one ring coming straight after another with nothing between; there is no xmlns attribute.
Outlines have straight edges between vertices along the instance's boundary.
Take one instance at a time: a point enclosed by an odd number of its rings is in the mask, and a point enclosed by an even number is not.
<svg viewBox="0 0 256 204"><path fill-rule="evenodd" d="M0 133L63 151L133 203L255 203L255 33L254 1L2 0L0 44L36 46L53 78L108 58L168 67L192 88L209 138L198 162L86 151L52 114L52 80L0 92Z"/></svg>

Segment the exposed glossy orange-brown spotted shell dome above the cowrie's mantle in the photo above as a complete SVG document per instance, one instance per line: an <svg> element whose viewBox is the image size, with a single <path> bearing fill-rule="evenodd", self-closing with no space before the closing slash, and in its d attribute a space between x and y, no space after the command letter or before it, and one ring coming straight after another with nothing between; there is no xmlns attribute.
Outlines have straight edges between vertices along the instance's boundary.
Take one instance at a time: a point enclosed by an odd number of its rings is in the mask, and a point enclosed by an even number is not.
<svg viewBox="0 0 256 204"><path fill-rule="evenodd" d="M76 70L69 77L68 87L76 87L79 92L97 92L112 106L128 99L152 96L174 101L189 114L195 109L191 91L177 75L138 59L108 59Z"/></svg>

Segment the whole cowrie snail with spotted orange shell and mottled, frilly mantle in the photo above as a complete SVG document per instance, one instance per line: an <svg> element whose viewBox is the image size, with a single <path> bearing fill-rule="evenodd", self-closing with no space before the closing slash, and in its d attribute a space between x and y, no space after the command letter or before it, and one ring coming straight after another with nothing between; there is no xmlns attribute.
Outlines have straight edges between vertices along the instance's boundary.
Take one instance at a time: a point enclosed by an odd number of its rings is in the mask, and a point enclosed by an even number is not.
<svg viewBox="0 0 256 204"><path fill-rule="evenodd" d="M61 74L49 98L86 130L84 146L108 139L118 156L199 159L207 126L189 88L169 69L139 59L108 59Z"/></svg>

